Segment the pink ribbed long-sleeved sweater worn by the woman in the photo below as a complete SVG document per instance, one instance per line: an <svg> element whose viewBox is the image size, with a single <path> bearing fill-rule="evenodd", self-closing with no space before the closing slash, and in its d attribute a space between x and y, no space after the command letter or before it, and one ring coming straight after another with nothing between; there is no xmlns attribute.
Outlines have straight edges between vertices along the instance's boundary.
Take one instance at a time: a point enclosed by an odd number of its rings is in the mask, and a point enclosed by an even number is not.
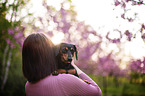
<svg viewBox="0 0 145 96"><path fill-rule="evenodd" d="M35 84L27 81L25 92L27 96L101 96L101 89L89 76L79 76L91 84L71 74L50 75Z"/></svg>

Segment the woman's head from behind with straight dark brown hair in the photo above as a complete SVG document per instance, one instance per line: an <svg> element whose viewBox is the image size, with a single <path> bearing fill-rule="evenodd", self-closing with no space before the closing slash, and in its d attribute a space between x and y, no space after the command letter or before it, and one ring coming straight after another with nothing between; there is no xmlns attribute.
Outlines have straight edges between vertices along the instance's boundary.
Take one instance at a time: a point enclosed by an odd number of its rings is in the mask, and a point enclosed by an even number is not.
<svg viewBox="0 0 145 96"><path fill-rule="evenodd" d="M44 33L33 33L25 39L22 69L29 82L37 82L57 70L53 48L53 43Z"/></svg>

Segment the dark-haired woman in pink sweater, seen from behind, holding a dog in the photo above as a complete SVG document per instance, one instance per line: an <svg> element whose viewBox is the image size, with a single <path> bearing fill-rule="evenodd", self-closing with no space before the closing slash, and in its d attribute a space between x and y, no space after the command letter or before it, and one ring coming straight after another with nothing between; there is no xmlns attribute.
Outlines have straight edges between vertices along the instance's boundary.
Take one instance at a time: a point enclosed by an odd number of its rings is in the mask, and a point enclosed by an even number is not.
<svg viewBox="0 0 145 96"><path fill-rule="evenodd" d="M57 70L53 48L53 43L43 33L33 33L25 39L22 69L28 80L25 85L26 95L101 96L98 85L74 64L81 79L71 74L53 74Z"/></svg>

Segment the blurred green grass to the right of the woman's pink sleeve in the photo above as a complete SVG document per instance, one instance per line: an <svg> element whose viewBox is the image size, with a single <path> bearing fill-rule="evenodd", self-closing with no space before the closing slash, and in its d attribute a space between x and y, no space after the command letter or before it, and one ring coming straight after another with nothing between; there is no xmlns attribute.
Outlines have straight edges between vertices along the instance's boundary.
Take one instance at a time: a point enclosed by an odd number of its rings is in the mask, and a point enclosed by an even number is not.
<svg viewBox="0 0 145 96"><path fill-rule="evenodd" d="M101 88L102 96L145 96L145 85L130 83L128 78L89 75ZM105 87L104 87L105 86Z"/></svg>

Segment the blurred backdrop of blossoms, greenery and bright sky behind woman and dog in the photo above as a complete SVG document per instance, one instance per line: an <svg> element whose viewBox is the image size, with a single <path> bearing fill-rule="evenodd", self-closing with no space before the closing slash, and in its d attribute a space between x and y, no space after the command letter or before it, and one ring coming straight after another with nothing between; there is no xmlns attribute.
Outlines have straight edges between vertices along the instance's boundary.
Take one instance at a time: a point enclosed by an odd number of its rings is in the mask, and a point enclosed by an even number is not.
<svg viewBox="0 0 145 96"><path fill-rule="evenodd" d="M102 96L145 96L145 0L0 0L0 96L25 96L21 50L33 32L77 46Z"/></svg>

